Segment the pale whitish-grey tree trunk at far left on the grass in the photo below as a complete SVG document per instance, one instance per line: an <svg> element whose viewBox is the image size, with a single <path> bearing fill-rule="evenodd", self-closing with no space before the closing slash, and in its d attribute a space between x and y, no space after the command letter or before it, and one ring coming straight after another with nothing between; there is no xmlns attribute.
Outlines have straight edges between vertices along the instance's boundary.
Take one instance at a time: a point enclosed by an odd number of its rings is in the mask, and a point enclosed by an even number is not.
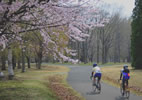
<svg viewBox="0 0 142 100"><path fill-rule="evenodd" d="M8 48L8 75L10 80L13 79L14 71L12 67L12 50L10 47Z"/></svg>

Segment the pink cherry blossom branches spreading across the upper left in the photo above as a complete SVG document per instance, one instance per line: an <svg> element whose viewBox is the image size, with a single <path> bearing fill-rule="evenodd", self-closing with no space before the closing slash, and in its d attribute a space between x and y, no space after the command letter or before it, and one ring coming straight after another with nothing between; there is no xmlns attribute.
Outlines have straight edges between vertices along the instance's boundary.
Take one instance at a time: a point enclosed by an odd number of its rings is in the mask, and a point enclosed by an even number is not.
<svg viewBox="0 0 142 100"><path fill-rule="evenodd" d="M89 36L85 33L86 29L103 27L107 21L95 20L99 17L96 6L98 2L99 0L0 0L0 44L6 47L13 39L22 41L23 34L38 31L44 39L47 52L52 51L55 58L75 63L77 60L64 55L64 52L75 55L74 50L59 49L52 34L58 39L60 33L52 30L63 30L70 40L84 41ZM54 46L48 48L49 43Z"/></svg>

